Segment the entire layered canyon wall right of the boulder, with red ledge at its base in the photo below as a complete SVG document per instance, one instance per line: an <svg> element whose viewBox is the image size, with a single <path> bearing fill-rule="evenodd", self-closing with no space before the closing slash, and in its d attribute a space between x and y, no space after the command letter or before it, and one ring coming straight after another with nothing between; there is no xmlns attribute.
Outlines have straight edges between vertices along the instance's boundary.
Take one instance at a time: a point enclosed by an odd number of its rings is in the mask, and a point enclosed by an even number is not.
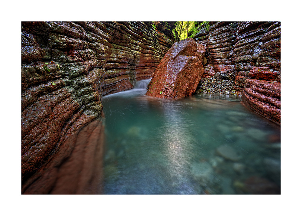
<svg viewBox="0 0 302 216"><path fill-rule="evenodd" d="M280 124L280 22L201 22L194 39L207 47L204 77L235 76L249 109Z"/></svg>

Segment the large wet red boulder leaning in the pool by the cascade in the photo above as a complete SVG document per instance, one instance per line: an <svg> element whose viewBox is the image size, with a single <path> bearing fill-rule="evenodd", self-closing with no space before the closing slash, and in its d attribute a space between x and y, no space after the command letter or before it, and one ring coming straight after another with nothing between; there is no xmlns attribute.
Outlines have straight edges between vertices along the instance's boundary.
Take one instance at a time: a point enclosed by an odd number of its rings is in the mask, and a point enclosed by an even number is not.
<svg viewBox="0 0 302 216"><path fill-rule="evenodd" d="M192 95L204 73L202 58L192 38L173 44L156 68L146 95L172 99Z"/></svg>

